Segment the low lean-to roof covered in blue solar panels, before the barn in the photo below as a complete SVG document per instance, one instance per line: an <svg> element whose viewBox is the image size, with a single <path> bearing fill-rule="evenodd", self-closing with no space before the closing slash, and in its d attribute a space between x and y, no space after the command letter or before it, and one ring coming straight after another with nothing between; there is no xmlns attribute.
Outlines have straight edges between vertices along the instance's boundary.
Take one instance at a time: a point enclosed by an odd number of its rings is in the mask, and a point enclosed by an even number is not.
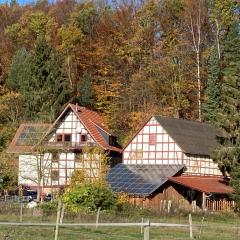
<svg viewBox="0 0 240 240"><path fill-rule="evenodd" d="M119 163L110 169L107 180L115 192L149 196L169 177L176 175L183 168L183 165L125 165Z"/></svg>

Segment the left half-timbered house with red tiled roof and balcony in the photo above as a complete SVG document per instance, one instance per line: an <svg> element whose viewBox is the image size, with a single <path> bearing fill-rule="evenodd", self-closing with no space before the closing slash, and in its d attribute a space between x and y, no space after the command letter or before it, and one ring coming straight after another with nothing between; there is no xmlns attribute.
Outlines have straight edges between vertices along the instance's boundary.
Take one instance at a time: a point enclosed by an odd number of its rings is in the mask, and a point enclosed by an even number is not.
<svg viewBox="0 0 240 240"><path fill-rule="evenodd" d="M73 104L53 124L21 124L8 152L18 154L19 184L40 185L45 192L69 184L75 169L98 177L101 154L107 154L111 166L121 161L121 148L101 116Z"/></svg>

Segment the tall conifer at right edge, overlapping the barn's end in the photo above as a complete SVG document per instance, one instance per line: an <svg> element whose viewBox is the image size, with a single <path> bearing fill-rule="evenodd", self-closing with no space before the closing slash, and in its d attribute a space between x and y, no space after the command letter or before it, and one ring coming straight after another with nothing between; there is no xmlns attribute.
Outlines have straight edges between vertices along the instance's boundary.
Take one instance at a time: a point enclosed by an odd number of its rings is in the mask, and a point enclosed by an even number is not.
<svg viewBox="0 0 240 240"><path fill-rule="evenodd" d="M238 25L227 34L223 48L223 83L218 125L223 131L216 158L230 184L240 210L240 37Z"/></svg>

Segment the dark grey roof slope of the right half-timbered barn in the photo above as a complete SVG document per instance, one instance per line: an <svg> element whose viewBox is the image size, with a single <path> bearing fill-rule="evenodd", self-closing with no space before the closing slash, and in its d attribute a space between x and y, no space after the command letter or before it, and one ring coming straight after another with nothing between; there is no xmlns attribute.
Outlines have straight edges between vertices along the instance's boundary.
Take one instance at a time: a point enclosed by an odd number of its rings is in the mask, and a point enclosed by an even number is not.
<svg viewBox="0 0 240 240"><path fill-rule="evenodd" d="M185 153L207 155L218 142L220 132L206 123L154 116Z"/></svg>

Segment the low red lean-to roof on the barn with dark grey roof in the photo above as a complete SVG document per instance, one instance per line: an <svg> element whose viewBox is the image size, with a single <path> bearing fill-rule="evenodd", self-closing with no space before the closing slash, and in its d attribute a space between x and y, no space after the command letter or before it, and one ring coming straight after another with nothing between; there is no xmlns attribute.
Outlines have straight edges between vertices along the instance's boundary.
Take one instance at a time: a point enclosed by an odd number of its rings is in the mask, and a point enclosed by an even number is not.
<svg viewBox="0 0 240 240"><path fill-rule="evenodd" d="M205 193L228 194L234 192L233 188L227 184L223 177L177 176L171 177L169 180Z"/></svg>

